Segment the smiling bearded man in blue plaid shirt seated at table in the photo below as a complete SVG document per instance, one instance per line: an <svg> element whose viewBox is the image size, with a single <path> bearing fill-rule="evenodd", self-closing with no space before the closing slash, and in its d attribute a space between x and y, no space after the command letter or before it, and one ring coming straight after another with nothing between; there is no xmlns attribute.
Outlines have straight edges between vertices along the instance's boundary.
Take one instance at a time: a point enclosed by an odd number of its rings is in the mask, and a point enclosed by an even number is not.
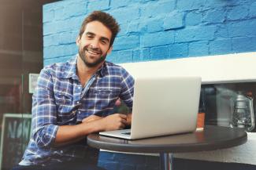
<svg viewBox="0 0 256 170"><path fill-rule="evenodd" d="M76 38L79 54L43 68L32 104L32 138L14 169L100 169L91 165L85 136L130 125L131 114L111 114L117 99L132 108L134 80L106 62L119 31L107 13L91 13ZM82 142L81 142L82 140Z"/></svg>

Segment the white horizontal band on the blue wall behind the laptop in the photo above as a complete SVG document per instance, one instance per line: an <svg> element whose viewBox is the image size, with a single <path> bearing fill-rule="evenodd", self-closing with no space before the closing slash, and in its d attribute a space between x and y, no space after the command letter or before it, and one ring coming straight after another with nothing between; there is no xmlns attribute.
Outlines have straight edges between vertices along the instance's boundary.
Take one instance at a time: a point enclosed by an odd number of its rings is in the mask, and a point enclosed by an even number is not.
<svg viewBox="0 0 256 170"><path fill-rule="evenodd" d="M121 64L133 77L200 76L202 84L256 81L256 52Z"/></svg>

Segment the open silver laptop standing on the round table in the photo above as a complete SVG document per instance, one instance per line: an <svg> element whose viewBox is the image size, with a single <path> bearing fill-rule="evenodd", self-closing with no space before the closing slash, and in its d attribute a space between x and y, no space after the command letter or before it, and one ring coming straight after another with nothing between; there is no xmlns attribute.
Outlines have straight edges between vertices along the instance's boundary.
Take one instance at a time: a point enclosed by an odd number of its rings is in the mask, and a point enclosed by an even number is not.
<svg viewBox="0 0 256 170"><path fill-rule="evenodd" d="M135 78L131 129L99 134L142 139L194 132L200 89L199 77Z"/></svg>

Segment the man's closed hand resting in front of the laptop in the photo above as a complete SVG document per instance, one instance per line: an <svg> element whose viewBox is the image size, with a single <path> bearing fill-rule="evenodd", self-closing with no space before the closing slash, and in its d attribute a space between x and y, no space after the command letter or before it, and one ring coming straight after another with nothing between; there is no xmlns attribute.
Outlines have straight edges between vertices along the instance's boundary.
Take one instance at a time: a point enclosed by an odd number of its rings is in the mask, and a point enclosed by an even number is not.
<svg viewBox="0 0 256 170"><path fill-rule="evenodd" d="M127 115L125 114L111 114L99 121L101 121L100 125L102 125L103 131L123 129L126 125L128 125Z"/></svg>

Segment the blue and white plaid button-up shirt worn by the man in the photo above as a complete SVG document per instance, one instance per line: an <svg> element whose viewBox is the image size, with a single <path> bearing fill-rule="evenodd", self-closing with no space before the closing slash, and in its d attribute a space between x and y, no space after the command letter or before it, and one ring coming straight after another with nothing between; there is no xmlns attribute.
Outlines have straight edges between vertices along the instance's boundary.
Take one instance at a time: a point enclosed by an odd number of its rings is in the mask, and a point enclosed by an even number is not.
<svg viewBox="0 0 256 170"><path fill-rule="evenodd" d="M95 114L113 114L121 98L132 109L134 79L124 68L105 62L82 87L76 75L77 56L66 63L44 67L32 103L32 137L20 165L39 165L50 160L84 157L86 146L54 147L59 125L76 125Z"/></svg>

